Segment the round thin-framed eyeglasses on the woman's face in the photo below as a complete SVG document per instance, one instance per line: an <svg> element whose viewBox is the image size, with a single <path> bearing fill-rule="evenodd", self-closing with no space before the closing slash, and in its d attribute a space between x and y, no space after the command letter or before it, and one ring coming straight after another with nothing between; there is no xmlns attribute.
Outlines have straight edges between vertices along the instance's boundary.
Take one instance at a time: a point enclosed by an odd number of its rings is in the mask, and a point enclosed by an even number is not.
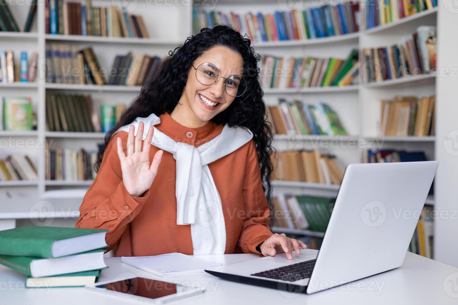
<svg viewBox="0 0 458 305"><path fill-rule="evenodd" d="M196 68L191 64L194 70L196 70L196 79L202 85L212 85L218 80L218 76L224 78L224 90L227 94L232 97L239 97L246 91L246 80L240 75L230 75L225 78L218 73L218 68L214 64L203 63L199 64Z"/></svg>

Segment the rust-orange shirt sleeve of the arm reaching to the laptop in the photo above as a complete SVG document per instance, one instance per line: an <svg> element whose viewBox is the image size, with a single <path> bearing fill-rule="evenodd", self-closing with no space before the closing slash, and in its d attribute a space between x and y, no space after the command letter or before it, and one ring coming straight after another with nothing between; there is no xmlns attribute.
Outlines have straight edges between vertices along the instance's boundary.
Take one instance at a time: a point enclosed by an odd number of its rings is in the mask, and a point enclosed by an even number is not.
<svg viewBox="0 0 458 305"><path fill-rule="evenodd" d="M259 253L256 246L269 238L273 233L269 230L268 218L270 210L267 198L262 190L261 170L259 168L256 144L251 139L245 166L243 182L243 199L246 219L240 233L238 244L244 253Z"/></svg>

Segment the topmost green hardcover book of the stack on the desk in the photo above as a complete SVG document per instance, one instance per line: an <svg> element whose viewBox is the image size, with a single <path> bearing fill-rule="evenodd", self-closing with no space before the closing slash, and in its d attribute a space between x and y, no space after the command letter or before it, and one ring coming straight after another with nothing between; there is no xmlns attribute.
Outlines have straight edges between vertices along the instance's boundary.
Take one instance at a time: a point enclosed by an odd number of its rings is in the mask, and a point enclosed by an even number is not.
<svg viewBox="0 0 458 305"><path fill-rule="evenodd" d="M25 226L0 231L0 254L55 258L104 248L108 230Z"/></svg>

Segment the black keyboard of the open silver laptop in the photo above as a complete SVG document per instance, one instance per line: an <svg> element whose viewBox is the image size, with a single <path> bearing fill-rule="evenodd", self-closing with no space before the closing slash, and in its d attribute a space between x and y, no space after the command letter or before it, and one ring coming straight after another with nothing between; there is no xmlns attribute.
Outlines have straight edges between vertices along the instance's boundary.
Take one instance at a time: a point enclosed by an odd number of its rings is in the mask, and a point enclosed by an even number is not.
<svg viewBox="0 0 458 305"><path fill-rule="evenodd" d="M303 278L310 278L316 259L307 262L297 262L292 265L270 269L250 275L262 278L275 278L283 281L294 282Z"/></svg>

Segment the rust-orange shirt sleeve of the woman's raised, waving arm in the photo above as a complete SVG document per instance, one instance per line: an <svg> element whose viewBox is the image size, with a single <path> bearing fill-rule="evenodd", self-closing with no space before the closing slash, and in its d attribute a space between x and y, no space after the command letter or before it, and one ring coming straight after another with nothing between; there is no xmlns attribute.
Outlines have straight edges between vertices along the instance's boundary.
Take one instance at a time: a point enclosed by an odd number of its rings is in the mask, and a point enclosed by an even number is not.
<svg viewBox="0 0 458 305"><path fill-rule="evenodd" d="M117 138L120 137L126 152L128 133L114 134L108 143L100 169L91 187L84 195L76 228L109 230L105 241L109 251L116 246L129 222L131 222L147 201L149 190L142 197L131 196L122 182L120 160L117 154Z"/></svg>

